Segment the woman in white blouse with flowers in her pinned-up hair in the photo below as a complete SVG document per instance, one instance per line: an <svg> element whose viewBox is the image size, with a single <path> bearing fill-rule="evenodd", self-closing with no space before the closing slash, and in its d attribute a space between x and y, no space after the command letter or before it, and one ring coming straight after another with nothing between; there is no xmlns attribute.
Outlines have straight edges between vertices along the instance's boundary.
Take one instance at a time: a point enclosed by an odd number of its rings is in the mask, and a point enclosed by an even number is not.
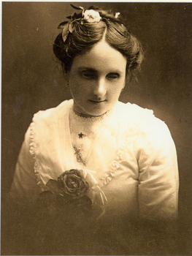
<svg viewBox="0 0 192 256"><path fill-rule="evenodd" d="M10 195L24 205L45 191L86 195L104 209L102 218L176 219L169 129L152 110L118 101L140 67L142 46L119 13L77 9L53 45L73 99L34 115Z"/></svg>

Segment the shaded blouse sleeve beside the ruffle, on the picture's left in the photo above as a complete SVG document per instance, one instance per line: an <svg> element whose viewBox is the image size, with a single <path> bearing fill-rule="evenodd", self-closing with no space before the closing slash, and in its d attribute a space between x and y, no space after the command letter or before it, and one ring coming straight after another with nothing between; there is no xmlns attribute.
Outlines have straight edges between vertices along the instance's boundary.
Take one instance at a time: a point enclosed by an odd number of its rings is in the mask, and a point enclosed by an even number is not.
<svg viewBox="0 0 192 256"><path fill-rule="evenodd" d="M26 132L25 140L20 149L12 187L9 192L11 198L21 204L33 202L40 192L40 188L37 185L37 177L34 173L34 159L29 151L29 140L30 128Z"/></svg>

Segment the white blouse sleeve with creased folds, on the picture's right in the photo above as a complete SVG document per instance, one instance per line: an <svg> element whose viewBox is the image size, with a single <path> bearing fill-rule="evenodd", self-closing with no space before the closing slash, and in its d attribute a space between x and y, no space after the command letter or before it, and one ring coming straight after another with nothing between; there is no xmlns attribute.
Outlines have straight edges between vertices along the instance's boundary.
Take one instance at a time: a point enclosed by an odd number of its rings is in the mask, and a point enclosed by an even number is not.
<svg viewBox="0 0 192 256"><path fill-rule="evenodd" d="M174 141L166 124L158 118L147 125L150 128L140 133L135 148L140 217L176 219L179 178Z"/></svg>

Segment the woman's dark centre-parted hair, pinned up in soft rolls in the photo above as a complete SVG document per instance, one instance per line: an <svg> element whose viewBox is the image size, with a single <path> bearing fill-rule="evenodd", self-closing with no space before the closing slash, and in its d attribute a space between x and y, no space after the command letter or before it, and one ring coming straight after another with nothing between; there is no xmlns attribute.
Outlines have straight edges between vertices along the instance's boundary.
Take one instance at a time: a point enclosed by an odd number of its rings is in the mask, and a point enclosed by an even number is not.
<svg viewBox="0 0 192 256"><path fill-rule="evenodd" d="M93 7L92 7L93 10ZM69 72L72 62L77 54L84 54L93 48L97 42L104 39L112 48L126 56L126 73L131 79L139 70L143 59L142 45L136 37L129 33L126 26L110 11L95 9L99 12L101 20L93 23L80 23L73 21L73 31L64 39L62 33L58 34L53 44L53 52L61 61L65 72Z"/></svg>

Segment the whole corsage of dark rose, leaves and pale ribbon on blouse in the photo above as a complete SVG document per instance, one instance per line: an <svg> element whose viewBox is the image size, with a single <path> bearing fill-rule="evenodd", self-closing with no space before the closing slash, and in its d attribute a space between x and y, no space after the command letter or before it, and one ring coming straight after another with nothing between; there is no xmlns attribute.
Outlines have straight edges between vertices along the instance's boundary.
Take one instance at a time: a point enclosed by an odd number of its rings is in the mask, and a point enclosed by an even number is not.
<svg viewBox="0 0 192 256"><path fill-rule="evenodd" d="M49 208L48 214L60 215L67 222L80 223L99 219L105 213L107 198L88 170L72 169L62 173L57 181L50 179L49 191L39 195L39 207ZM59 217L60 218L60 217Z"/></svg>

